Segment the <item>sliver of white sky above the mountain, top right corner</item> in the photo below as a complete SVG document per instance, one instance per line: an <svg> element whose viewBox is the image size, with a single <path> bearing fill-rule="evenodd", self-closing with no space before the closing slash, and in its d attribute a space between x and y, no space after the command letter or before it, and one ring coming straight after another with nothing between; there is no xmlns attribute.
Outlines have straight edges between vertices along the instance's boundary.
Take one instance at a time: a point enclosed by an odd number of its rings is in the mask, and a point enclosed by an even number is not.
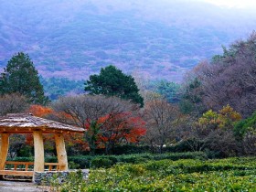
<svg viewBox="0 0 256 192"><path fill-rule="evenodd" d="M238 7L238 8L256 7L255 0L202 0L202 1L214 4L214 5Z"/></svg>

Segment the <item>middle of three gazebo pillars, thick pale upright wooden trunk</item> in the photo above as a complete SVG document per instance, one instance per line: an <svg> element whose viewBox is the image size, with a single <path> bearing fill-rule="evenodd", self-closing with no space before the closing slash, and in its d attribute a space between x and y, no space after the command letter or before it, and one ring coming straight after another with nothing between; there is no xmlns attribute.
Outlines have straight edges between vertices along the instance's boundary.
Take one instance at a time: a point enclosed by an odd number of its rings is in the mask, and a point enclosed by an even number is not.
<svg viewBox="0 0 256 192"><path fill-rule="evenodd" d="M41 131L35 131L33 132L33 137L35 150L34 171L42 172L45 170L43 134Z"/></svg>

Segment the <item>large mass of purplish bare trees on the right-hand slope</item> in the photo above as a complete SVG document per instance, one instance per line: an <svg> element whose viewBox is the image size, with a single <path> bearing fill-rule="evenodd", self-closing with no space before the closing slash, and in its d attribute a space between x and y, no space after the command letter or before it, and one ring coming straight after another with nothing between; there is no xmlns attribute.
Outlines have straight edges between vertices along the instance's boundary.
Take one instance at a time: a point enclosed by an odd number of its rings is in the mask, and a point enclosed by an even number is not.
<svg viewBox="0 0 256 192"><path fill-rule="evenodd" d="M203 104L207 110L218 111L229 104L243 117L250 116L256 109L255 50L253 32L247 40L224 48L223 55L215 56L211 62L203 61L190 71L185 91L194 107L198 109L198 104ZM193 80L198 82L197 89Z"/></svg>

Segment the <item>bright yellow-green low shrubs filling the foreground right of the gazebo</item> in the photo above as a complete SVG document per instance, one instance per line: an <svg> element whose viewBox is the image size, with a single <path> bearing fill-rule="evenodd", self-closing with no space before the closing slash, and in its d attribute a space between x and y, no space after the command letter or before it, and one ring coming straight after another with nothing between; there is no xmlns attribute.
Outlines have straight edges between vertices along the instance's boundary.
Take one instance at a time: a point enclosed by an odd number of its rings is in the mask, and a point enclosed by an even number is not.
<svg viewBox="0 0 256 192"><path fill-rule="evenodd" d="M89 179L59 191L255 191L256 158L165 159L91 169ZM76 176L72 176L74 179Z"/></svg>

